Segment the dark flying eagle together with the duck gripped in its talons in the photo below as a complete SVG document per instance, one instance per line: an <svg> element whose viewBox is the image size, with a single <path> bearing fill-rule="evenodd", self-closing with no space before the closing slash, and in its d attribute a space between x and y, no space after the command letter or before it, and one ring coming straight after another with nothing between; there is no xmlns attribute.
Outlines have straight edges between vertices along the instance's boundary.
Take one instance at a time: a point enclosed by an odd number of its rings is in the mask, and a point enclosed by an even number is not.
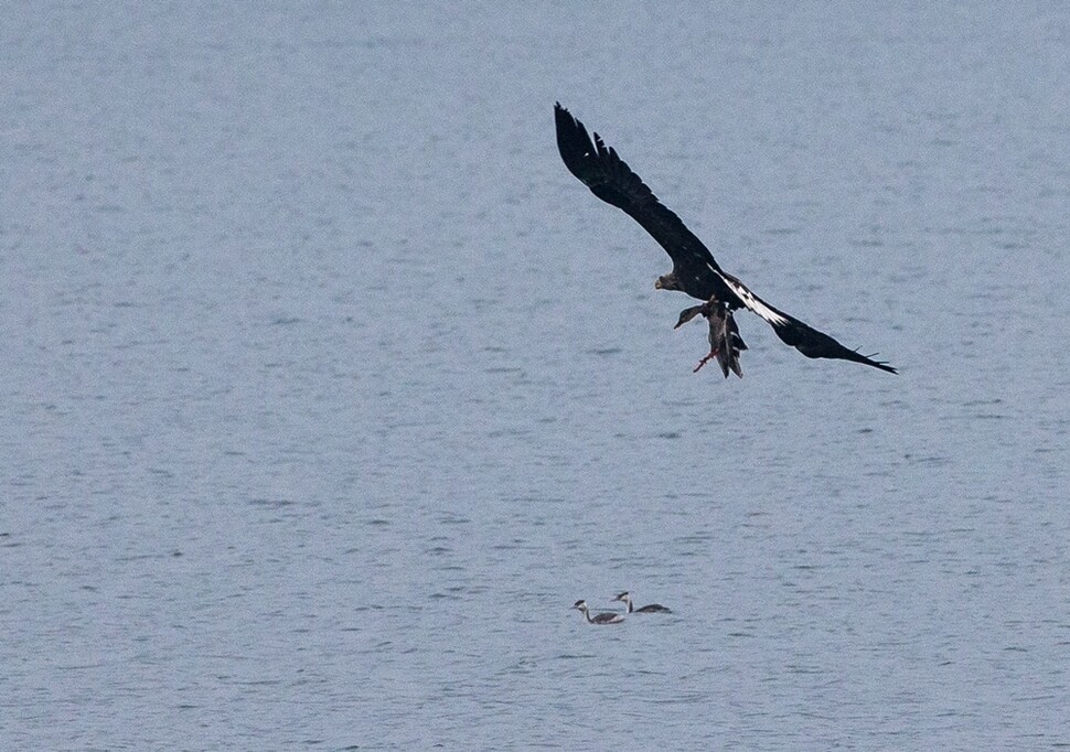
<svg viewBox="0 0 1070 752"><path fill-rule="evenodd" d="M887 363L844 347L831 336L803 323L799 319L773 308L750 289L721 269L709 249L687 229L672 210L665 207L657 196L643 183L617 151L607 148L601 137L595 140L584 123L560 106L554 105L557 122L557 148L565 166L579 178L596 196L622 210L643 226L673 259L673 270L654 282L659 290L680 290L703 301L702 305L681 311L676 327L696 315L709 323L709 355L695 370L717 358L725 377L729 369L742 376L739 368L739 351L746 350L732 311L740 308L764 319L785 344L806 357L830 357L864 363L874 368L897 373Z"/></svg>

